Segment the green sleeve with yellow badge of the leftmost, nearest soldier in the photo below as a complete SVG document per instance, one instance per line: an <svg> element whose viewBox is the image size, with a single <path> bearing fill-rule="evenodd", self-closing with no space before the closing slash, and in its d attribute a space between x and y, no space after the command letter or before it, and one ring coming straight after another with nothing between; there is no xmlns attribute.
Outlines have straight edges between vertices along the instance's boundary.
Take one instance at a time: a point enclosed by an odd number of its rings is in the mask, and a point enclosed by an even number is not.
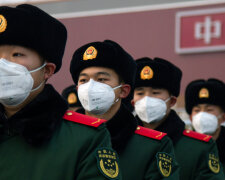
<svg viewBox="0 0 225 180"><path fill-rule="evenodd" d="M82 158L75 175L76 180L122 179L118 165L118 156L114 156L115 151L111 148L110 134L106 128L98 130L85 147L86 149L81 154ZM104 162L110 160L113 164L110 171L108 171L106 166L101 165L102 159L98 158L98 152L102 153L101 157L103 157Z"/></svg>

